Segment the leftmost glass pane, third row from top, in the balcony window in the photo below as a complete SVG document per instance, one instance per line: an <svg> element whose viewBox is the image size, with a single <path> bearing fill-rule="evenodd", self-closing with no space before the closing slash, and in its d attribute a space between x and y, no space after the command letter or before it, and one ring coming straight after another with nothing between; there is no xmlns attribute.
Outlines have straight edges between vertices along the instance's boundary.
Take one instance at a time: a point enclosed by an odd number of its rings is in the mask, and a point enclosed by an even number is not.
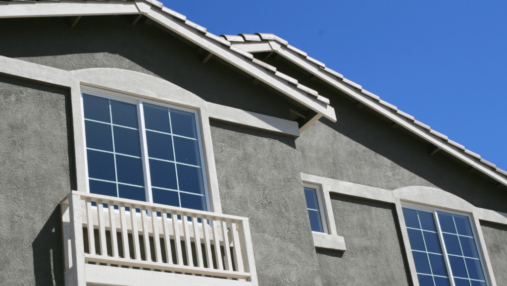
<svg viewBox="0 0 507 286"><path fill-rule="evenodd" d="M88 177L116 181L115 160L113 154L87 150Z"/></svg>

